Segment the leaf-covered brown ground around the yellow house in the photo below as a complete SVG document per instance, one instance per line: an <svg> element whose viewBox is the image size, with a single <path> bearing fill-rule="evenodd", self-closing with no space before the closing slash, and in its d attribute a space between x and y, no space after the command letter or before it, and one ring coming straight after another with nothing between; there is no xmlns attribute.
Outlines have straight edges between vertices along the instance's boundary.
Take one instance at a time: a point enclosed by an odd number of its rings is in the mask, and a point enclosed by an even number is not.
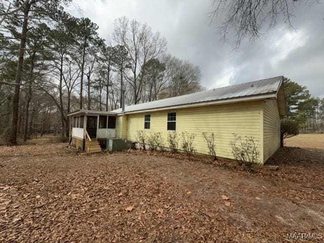
<svg viewBox="0 0 324 243"><path fill-rule="evenodd" d="M324 234L324 136L249 173L184 155L0 147L0 242L296 242ZM323 242L323 239L311 242Z"/></svg>

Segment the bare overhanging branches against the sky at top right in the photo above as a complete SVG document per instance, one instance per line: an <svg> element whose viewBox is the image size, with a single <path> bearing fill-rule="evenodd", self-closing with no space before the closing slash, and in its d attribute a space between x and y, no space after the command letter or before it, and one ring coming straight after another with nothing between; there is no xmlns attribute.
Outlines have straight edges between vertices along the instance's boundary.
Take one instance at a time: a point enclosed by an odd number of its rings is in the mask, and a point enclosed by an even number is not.
<svg viewBox="0 0 324 243"><path fill-rule="evenodd" d="M291 19L294 16L295 3L299 0L213 0L213 10L209 13L211 23L216 17L222 21L218 33L226 41L230 29L236 33L235 42L238 48L242 39L249 40L260 37L263 26L268 28L277 23L279 16L293 27ZM318 0L303 1L306 5L319 3Z"/></svg>

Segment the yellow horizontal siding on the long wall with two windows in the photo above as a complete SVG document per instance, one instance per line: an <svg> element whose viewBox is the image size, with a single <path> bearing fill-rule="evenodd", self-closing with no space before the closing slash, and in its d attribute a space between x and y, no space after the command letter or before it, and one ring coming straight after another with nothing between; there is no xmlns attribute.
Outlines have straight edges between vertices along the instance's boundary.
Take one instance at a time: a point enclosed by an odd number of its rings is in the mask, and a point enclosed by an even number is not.
<svg viewBox="0 0 324 243"><path fill-rule="evenodd" d="M197 153L208 154L206 140L203 132L215 134L217 156L233 158L230 142L233 133L242 136L253 136L257 141L260 155L262 147L261 102L245 102L226 105L213 105L205 107L192 107L177 110L147 112L151 114L150 130L144 130L144 114L128 114L127 139L136 141L137 131L145 134L160 132L168 147L167 113L177 112L177 133L195 134L194 148ZM119 124L119 122L117 123ZM179 140L179 148L181 139ZM260 159L262 163L262 157Z"/></svg>

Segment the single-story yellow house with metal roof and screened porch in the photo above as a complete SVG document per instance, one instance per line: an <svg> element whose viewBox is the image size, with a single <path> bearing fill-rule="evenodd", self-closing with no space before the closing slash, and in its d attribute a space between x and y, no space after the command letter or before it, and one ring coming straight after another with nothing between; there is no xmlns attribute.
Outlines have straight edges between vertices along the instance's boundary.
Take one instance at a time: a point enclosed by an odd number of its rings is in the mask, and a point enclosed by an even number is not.
<svg viewBox="0 0 324 243"><path fill-rule="evenodd" d="M195 135L195 152L208 154L203 133L214 133L216 154L225 158L234 158L230 146L233 134L253 137L260 154L259 163L264 164L280 147L280 118L286 115L282 80L282 76L272 77L130 105L110 112L79 110L69 114L73 117L72 139L75 136L85 139L90 121L86 117L95 115L98 139L105 134L106 138L135 142L138 131L147 135L158 132L168 147L168 133L181 135L188 132ZM83 124L77 120L74 123L76 115L84 119ZM115 127L112 123L108 126L109 119L113 120ZM83 136L81 127L86 128ZM78 132L74 132L75 128L78 128Z"/></svg>

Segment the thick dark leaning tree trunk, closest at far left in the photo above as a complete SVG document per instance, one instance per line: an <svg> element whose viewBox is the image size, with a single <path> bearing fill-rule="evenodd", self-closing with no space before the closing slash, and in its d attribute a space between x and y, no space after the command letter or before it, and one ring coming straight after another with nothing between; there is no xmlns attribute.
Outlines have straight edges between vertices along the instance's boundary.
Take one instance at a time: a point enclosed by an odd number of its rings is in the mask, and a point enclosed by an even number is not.
<svg viewBox="0 0 324 243"><path fill-rule="evenodd" d="M27 3L24 7L24 21L22 24L21 38L20 38L20 48L19 48L19 57L16 71L15 83L15 93L12 102L12 123L10 131L10 143L17 144L17 120L18 120L18 111L19 111L19 93L20 93L20 83L21 83L21 72L22 65L24 61L25 45L26 45L26 35L27 35L27 26L28 26L28 14L29 14L30 4Z"/></svg>

